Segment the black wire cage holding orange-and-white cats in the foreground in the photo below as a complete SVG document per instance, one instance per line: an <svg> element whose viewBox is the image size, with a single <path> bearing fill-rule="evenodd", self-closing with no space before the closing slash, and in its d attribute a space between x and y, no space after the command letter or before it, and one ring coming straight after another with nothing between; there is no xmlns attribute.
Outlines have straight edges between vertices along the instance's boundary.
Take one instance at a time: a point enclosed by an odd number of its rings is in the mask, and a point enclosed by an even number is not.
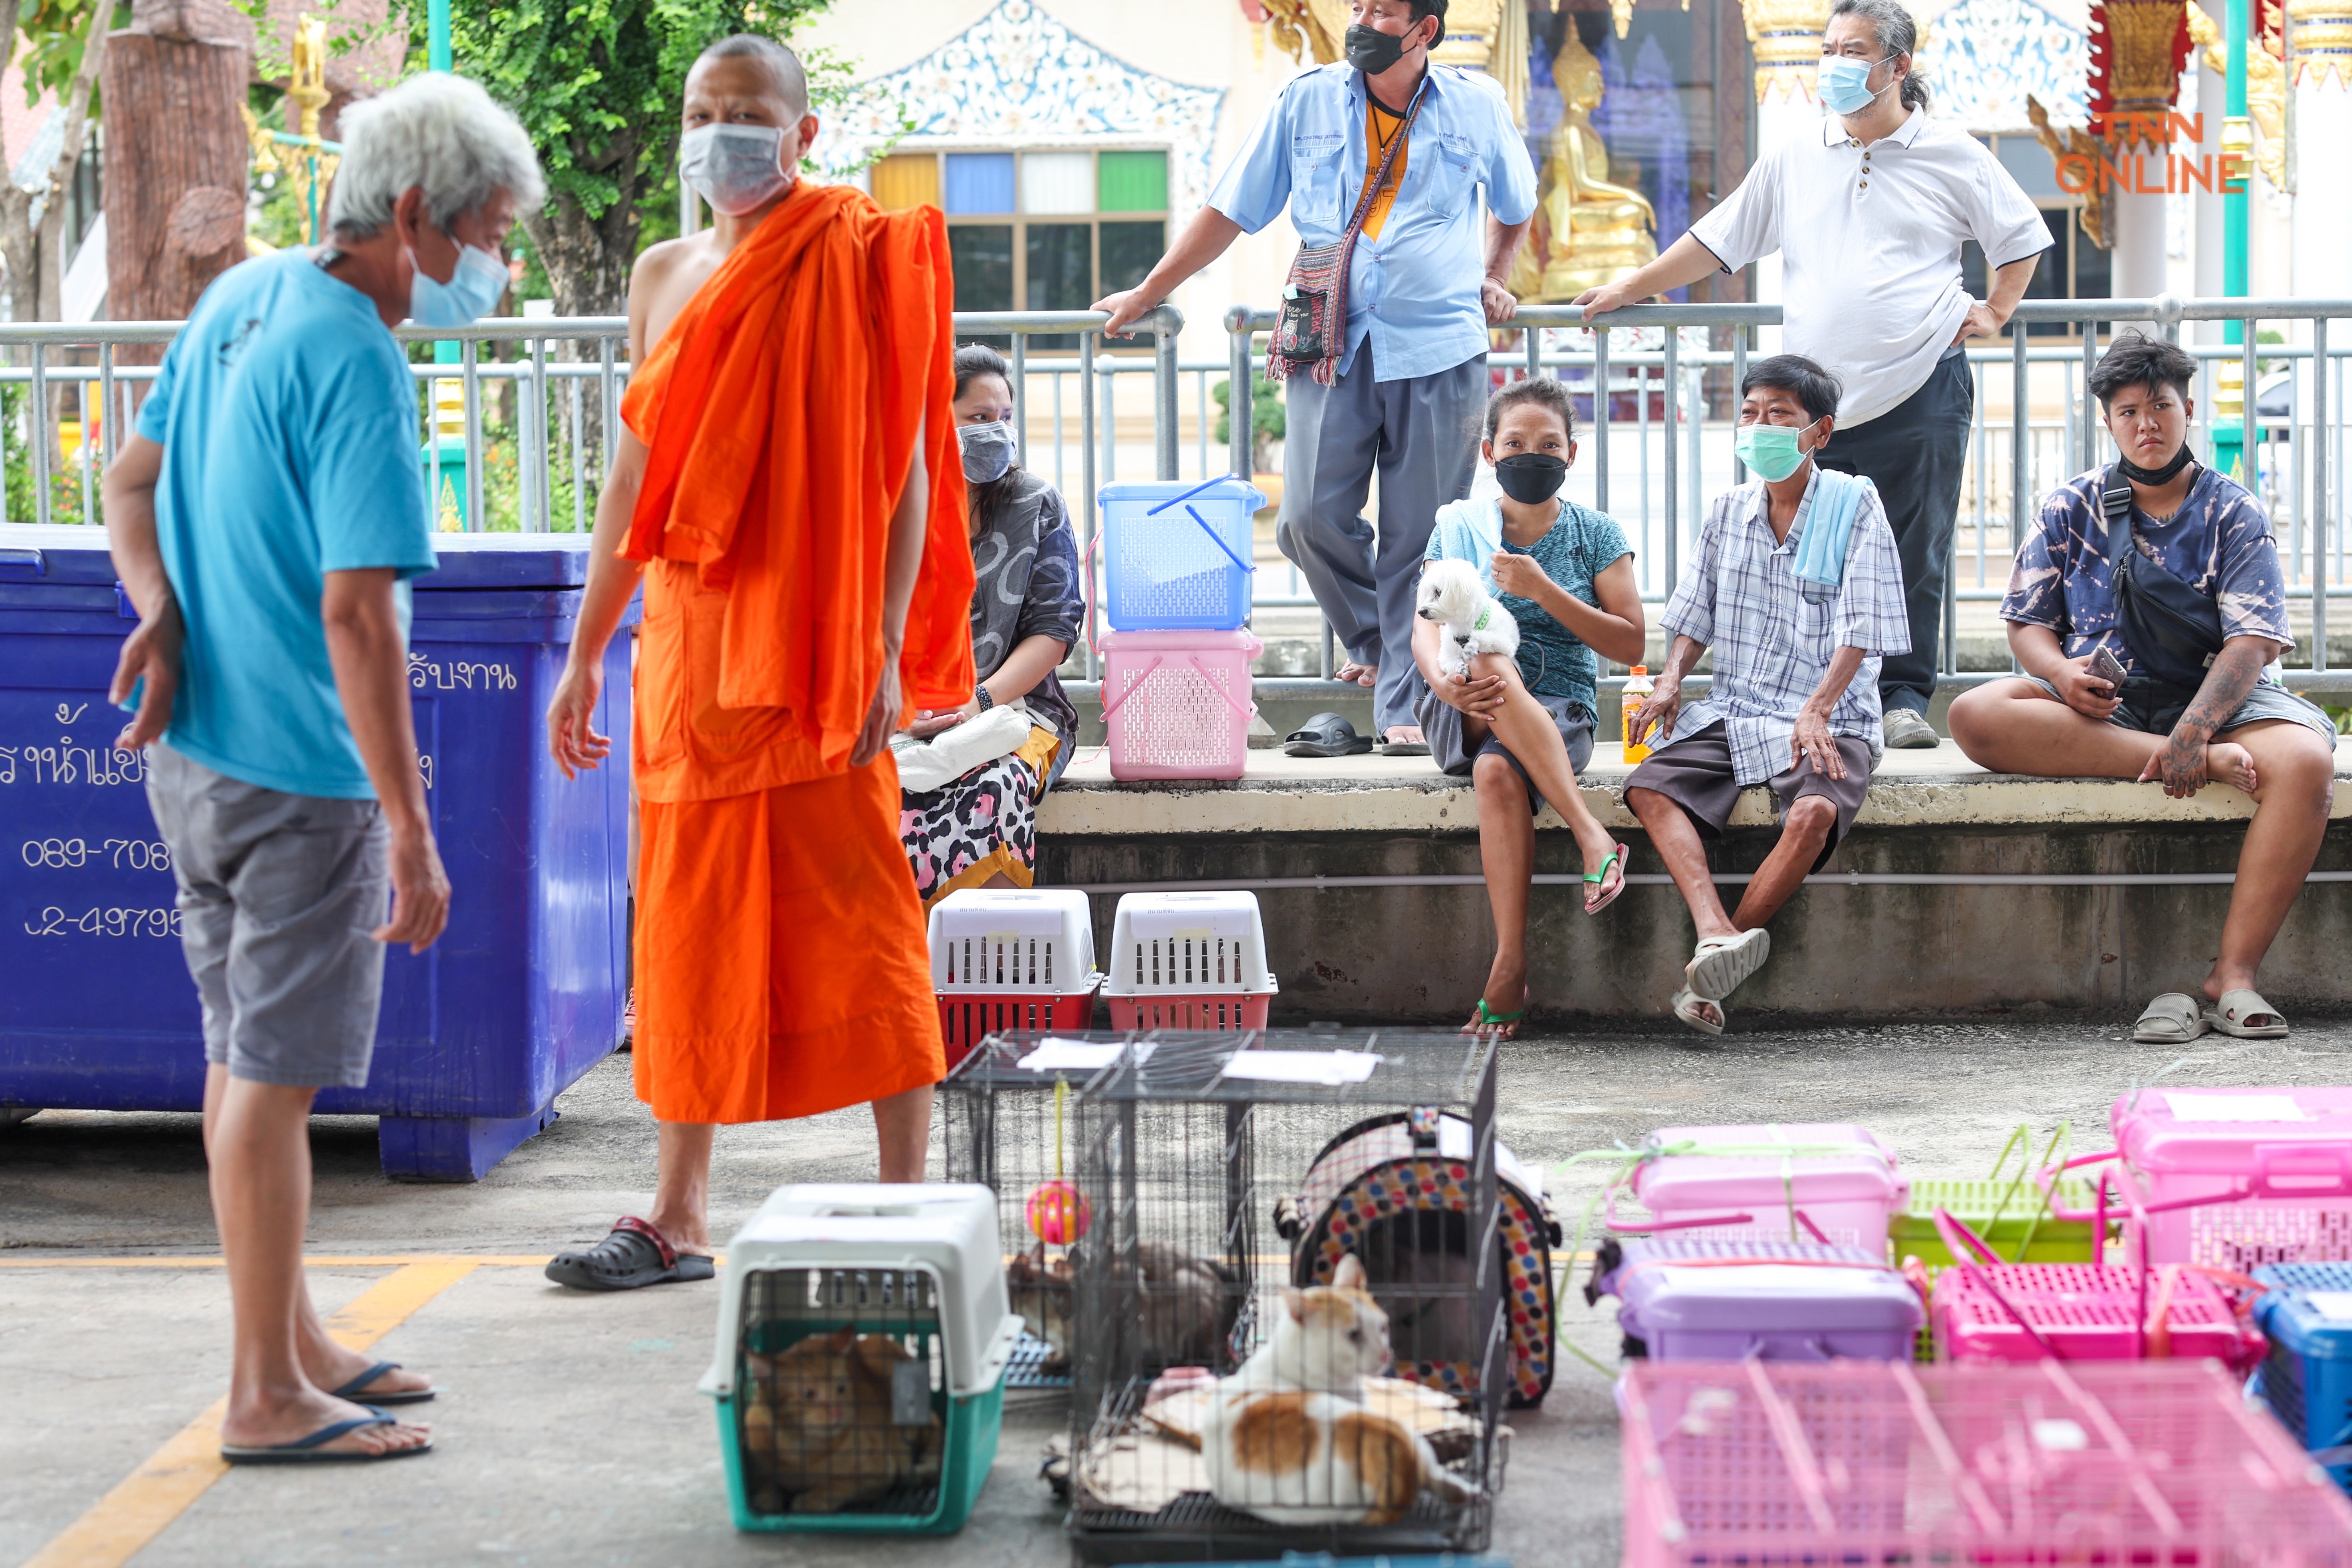
<svg viewBox="0 0 2352 1568"><path fill-rule="evenodd" d="M1494 1086L1491 1044L1390 1032L1150 1034L1087 1086L1065 1474L1082 1561L1486 1544L1512 1389ZM1454 1185L1461 1222L1409 1220L1298 1274L1277 1208L1383 1114L1430 1135L1390 1180ZM1430 1335L1458 1387L1392 1373L1392 1347L1399 1373L1435 1359Z"/></svg>

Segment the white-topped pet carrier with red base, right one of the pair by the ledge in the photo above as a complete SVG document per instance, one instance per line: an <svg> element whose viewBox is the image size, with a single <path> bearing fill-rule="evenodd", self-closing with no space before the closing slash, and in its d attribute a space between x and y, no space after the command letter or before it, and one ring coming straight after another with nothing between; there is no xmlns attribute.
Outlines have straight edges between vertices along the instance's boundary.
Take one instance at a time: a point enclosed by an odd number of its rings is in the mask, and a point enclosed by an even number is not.
<svg viewBox="0 0 2352 1568"><path fill-rule="evenodd" d="M1110 1027L1263 1030L1275 997L1256 893L1124 893L1110 924Z"/></svg>

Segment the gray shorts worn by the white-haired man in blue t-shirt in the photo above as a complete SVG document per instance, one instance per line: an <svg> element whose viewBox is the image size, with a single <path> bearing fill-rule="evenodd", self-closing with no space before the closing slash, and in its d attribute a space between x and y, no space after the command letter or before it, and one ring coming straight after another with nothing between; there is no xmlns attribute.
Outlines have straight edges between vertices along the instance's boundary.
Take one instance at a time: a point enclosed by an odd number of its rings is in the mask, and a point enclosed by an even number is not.
<svg viewBox="0 0 2352 1568"><path fill-rule="evenodd" d="M285 795L148 750L205 1060L292 1088L358 1088L376 1048L390 898L383 806Z"/></svg>

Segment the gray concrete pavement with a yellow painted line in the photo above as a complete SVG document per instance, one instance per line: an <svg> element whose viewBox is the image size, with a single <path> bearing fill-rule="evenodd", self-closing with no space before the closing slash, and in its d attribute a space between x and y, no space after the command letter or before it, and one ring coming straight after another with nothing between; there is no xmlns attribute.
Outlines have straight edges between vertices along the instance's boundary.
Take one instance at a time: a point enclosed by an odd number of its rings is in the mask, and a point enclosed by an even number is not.
<svg viewBox="0 0 2352 1568"><path fill-rule="evenodd" d="M2105 1107L2180 1051L2133 1046L2119 1018L2011 1016L1708 1041L1578 1032L1505 1048L1505 1140L1529 1161L1637 1140L1663 1124L1853 1119L1915 1175L1980 1175L2018 1121L2072 1119L2103 1147ZM2298 1018L2286 1041L2209 1037L2166 1084L2345 1084L2352 1023ZM1063 1561L1058 1512L1033 1479L1063 1415L1009 1401L995 1476L962 1535L743 1537L727 1523L717 1434L694 1380L710 1356L715 1293L666 1286L616 1298L548 1286L506 1262L588 1241L644 1206L654 1138L628 1093L628 1058L590 1072L562 1121L475 1187L390 1185L374 1124L313 1131L318 1258L487 1258L437 1286L379 1354L433 1371L447 1394L421 1415L440 1450L325 1472L233 1472L165 1509L141 1568L165 1563L974 1563ZM842 1112L727 1128L713 1194L720 1232L776 1185L870 1175L870 1121ZM1562 1218L1599 1166L1552 1175ZM47 1112L0 1131L0 1563L125 1561L120 1547L45 1544L205 1410L226 1378L226 1288L205 1206L195 1117ZM179 1260L174 1260L179 1255ZM141 1260L120 1267L118 1260ZM313 1267L322 1309L365 1307L390 1262ZM409 1276L416 1279L416 1276ZM376 1298L381 1300L381 1295ZM1613 1324L1564 1295L1569 1335L1611 1359ZM365 1316L365 1312L362 1312ZM1522 1568L1618 1556L1616 1418L1604 1380L1569 1361L1541 1410L1510 1418L1510 1483L1496 1549ZM155 1486L118 1493L132 1519ZM167 1500L169 1502L169 1500ZM82 1537L87 1542L87 1537Z"/></svg>

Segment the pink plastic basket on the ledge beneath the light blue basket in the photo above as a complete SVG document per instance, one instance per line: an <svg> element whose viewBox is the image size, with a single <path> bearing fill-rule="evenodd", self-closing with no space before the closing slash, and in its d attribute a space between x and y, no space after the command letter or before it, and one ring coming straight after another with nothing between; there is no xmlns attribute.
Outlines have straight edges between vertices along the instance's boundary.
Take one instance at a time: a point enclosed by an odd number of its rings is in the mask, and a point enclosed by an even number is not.
<svg viewBox="0 0 2352 1568"><path fill-rule="evenodd" d="M1249 632L1103 632L1112 778L1240 778L1249 757Z"/></svg>

